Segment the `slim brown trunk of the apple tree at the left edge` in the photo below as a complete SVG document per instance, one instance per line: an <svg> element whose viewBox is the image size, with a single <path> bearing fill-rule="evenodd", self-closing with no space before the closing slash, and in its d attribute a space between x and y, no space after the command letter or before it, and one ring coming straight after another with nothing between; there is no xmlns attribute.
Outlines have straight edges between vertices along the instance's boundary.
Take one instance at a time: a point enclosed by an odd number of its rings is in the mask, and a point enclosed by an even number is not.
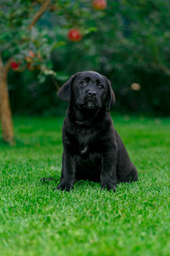
<svg viewBox="0 0 170 256"><path fill-rule="evenodd" d="M8 97L7 77L11 60L3 67L0 58L0 119L2 126L3 140L10 145L14 144L14 125Z"/></svg>

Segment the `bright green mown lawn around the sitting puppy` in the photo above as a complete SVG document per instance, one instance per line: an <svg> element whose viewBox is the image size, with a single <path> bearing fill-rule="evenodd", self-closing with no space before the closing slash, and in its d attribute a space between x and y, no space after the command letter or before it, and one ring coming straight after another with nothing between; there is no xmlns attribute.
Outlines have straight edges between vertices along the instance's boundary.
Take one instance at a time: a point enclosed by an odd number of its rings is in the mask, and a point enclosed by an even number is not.
<svg viewBox="0 0 170 256"><path fill-rule="evenodd" d="M16 146L0 143L1 255L170 255L170 119L117 117L116 130L139 171L116 193L60 177L60 118L14 118Z"/></svg>

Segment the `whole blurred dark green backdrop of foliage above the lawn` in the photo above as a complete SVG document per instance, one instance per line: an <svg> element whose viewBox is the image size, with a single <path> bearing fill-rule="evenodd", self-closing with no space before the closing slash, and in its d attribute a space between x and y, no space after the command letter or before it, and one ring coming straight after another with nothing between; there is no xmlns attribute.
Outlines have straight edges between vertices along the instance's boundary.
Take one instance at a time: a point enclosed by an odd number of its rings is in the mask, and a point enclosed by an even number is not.
<svg viewBox="0 0 170 256"><path fill-rule="evenodd" d="M3 61L12 55L27 67L8 72L13 113L64 114L59 87L74 73L94 70L111 80L115 111L169 114L170 1L100 0L106 3L100 9L89 0L49 2L29 30L43 1L0 1ZM81 34L73 41L72 28Z"/></svg>

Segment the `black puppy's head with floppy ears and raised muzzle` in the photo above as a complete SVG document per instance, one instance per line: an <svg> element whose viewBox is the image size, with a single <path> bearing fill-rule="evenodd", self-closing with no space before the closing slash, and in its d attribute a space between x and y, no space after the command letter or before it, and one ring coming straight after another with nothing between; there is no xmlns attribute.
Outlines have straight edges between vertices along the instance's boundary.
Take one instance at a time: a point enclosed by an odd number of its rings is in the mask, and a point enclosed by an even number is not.
<svg viewBox="0 0 170 256"><path fill-rule="evenodd" d="M110 81L93 71L71 76L71 79L60 88L58 96L61 100L83 109L106 107L109 111L115 103Z"/></svg>

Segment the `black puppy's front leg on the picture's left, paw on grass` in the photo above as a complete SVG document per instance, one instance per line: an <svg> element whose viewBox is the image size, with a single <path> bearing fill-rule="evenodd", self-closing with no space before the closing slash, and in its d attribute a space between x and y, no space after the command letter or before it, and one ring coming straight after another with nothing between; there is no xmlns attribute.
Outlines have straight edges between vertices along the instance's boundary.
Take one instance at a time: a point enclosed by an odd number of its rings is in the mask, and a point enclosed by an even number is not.
<svg viewBox="0 0 170 256"><path fill-rule="evenodd" d="M70 191L75 182L75 172L74 156L64 151L62 156L61 182L55 189Z"/></svg>

